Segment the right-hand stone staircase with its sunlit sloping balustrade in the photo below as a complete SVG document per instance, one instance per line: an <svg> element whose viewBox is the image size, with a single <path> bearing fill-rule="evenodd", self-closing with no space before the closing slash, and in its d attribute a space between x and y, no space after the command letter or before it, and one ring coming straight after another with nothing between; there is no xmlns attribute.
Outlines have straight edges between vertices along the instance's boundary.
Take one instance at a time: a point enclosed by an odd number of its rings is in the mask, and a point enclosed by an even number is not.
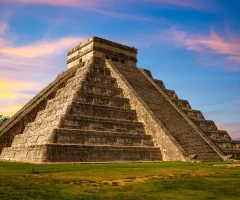
<svg viewBox="0 0 240 200"><path fill-rule="evenodd" d="M222 160L222 152L169 98L167 92L173 91L163 91L149 75L150 71L134 66L126 68L119 62L107 62L110 69L116 72L116 77L136 93L137 101L141 101L146 108L145 112L142 112L143 107L140 106L136 110L146 130L153 134L154 143L160 147L163 160Z"/></svg>

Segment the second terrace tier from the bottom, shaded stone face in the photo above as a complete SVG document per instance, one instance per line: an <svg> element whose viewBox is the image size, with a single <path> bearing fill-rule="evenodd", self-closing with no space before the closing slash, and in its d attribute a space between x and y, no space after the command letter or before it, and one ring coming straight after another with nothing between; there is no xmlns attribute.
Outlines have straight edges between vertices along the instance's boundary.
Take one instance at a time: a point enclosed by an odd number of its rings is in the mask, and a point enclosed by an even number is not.
<svg viewBox="0 0 240 200"><path fill-rule="evenodd" d="M53 143L115 146L154 146L151 135L55 129Z"/></svg>

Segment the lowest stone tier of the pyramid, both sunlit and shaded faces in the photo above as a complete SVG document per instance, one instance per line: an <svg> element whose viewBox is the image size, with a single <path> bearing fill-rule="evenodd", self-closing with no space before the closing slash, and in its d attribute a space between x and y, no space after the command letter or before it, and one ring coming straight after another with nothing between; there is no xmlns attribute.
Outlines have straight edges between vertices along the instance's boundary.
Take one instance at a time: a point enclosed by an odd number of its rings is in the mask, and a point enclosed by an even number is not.
<svg viewBox="0 0 240 200"><path fill-rule="evenodd" d="M37 147L7 148L5 161L22 162L125 162L125 161L160 161L161 153L155 147L129 147L129 146L91 146L91 145L65 145L47 144ZM0 158L1 159L1 158Z"/></svg>

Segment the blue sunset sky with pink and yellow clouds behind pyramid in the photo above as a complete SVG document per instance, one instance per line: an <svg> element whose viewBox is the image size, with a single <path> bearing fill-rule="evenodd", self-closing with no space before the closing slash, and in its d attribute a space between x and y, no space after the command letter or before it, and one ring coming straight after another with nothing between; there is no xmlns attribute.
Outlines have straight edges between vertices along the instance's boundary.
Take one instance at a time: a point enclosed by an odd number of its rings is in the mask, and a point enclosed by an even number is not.
<svg viewBox="0 0 240 200"><path fill-rule="evenodd" d="M12 116L66 70L91 36L138 49L178 97L240 140L240 1L0 0L0 114Z"/></svg>

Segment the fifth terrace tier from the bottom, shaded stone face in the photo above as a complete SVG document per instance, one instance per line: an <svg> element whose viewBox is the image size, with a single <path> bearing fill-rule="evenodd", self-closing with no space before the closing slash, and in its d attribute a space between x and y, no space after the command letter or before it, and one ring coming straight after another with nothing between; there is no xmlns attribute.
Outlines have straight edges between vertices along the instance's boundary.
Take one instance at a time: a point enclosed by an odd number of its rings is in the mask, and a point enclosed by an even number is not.
<svg viewBox="0 0 240 200"><path fill-rule="evenodd" d="M130 109L129 99L123 97L112 97L101 94L81 93L75 99L76 103L89 103L121 109Z"/></svg>

